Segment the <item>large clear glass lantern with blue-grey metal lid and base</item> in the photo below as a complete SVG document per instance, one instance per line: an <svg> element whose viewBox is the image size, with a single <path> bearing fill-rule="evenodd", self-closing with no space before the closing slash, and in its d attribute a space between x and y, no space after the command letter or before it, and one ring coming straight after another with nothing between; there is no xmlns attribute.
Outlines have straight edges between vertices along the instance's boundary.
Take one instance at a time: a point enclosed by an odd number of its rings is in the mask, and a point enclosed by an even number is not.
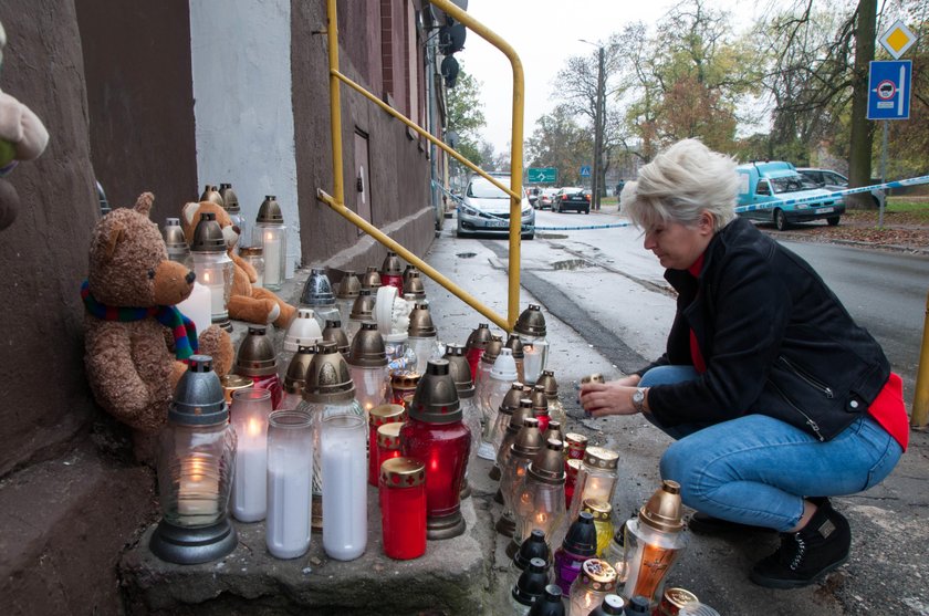
<svg viewBox="0 0 929 616"><path fill-rule="evenodd" d="M234 458L236 431L212 359L191 355L158 437L161 522L149 542L156 556L194 564L234 550L228 516Z"/></svg>

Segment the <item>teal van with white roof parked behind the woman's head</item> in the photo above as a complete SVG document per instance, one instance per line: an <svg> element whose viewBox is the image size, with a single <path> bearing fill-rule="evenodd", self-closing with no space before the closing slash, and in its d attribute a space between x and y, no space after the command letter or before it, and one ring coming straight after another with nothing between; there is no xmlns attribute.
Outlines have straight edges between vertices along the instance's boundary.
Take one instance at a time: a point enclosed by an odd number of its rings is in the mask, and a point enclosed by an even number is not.
<svg viewBox="0 0 929 616"><path fill-rule="evenodd" d="M777 230L784 230L794 222L823 218L835 226L845 213L841 197L829 197L829 191L817 188L790 163L750 163L739 165L737 171L740 179L737 205L760 206L740 212L744 218L773 222ZM792 203L794 199L811 200Z"/></svg>

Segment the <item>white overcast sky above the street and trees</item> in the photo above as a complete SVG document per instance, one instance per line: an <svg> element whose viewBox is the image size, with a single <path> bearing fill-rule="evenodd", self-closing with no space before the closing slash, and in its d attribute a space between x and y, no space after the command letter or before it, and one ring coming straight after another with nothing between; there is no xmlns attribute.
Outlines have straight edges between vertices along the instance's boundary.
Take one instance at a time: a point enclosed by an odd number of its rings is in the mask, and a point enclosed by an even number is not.
<svg viewBox="0 0 929 616"><path fill-rule="evenodd" d="M535 121L555 106L555 75L572 55L596 53L582 43L606 42L609 34L629 22L658 24L661 15L678 0L469 0L468 12L499 34L515 50L525 72L525 137ZM708 0L706 6L733 10L738 0ZM770 3L791 0L741 1L734 23L751 23L754 13ZM748 8L747 8L748 6ZM487 118L484 137L497 152L507 149L512 123L512 70L497 48L469 31L464 50L456 54L464 70L483 84L482 101Z"/></svg>

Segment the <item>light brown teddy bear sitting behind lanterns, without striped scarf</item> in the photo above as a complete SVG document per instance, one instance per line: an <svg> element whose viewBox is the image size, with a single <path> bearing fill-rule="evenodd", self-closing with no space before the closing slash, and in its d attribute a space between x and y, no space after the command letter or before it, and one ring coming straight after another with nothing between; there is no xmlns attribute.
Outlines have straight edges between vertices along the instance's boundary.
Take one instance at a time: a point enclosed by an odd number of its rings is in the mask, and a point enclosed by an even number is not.
<svg viewBox="0 0 929 616"><path fill-rule="evenodd" d="M190 202L181 210L181 225L184 237L187 243L194 240L194 230L200 222L203 213L216 215L216 220L222 228L222 237L226 238L226 250L236 263L232 276L232 293L229 296L229 317L249 323L273 323L276 327L284 328L290 325L296 309L280 299L274 292L260 286L252 286L258 280L258 272L251 263L246 262L241 257L233 253L236 244L239 243L239 228L232 225L222 206L212 201Z"/></svg>

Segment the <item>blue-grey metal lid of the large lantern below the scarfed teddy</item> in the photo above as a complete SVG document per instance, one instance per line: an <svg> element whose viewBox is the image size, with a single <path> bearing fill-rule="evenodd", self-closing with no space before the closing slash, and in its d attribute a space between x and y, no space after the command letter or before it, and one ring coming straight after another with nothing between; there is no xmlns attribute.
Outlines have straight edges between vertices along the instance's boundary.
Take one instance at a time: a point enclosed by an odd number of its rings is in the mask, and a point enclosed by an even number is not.
<svg viewBox="0 0 929 616"><path fill-rule="evenodd" d="M212 357L191 355L187 372L177 382L168 420L178 426L217 426L229 420L222 383L212 369Z"/></svg>

